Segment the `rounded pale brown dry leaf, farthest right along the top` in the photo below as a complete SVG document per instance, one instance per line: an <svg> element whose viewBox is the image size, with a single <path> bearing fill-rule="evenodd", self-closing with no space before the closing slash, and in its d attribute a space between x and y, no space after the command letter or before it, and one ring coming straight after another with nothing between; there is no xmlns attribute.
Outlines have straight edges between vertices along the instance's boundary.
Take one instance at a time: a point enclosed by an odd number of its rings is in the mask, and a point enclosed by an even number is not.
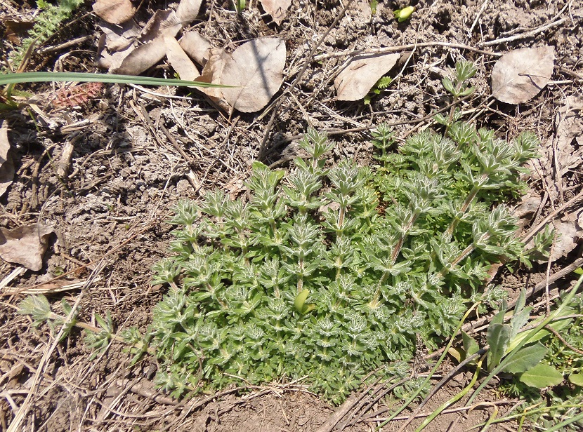
<svg viewBox="0 0 583 432"><path fill-rule="evenodd" d="M552 46L520 48L502 55L492 69L492 95L509 104L535 97L553 74Z"/></svg>

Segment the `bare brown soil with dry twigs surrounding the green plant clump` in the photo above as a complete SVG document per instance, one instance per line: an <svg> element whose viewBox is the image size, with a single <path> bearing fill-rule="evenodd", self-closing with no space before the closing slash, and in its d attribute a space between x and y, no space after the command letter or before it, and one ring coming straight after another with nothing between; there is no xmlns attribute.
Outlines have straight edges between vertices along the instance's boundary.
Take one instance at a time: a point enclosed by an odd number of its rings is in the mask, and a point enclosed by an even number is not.
<svg viewBox="0 0 583 432"><path fill-rule="evenodd" d="M9 126L16 175L0 200L0 226L13 229L41 222L53 227L55 234L40 271L22 270L14 276L20 266L0 263L0 281L6 281L0 304L1 430L8 430L23 406L27 410L18 429L22 431L322 430L339 407L309 393L305 386L226 389L216 396L177 403L155 390L155 359L131 366L131 356L117 343L104 355L90 359L91 350L77 330L41 362L54 342L49 329L44 325L33 328L30 318L18 315L15 306L25 290L34 287L48 295L55 311L61 310L60 299L64 298L71 304L79 301L79 320L93 323L96 313L105 316L110 312L118 330L131 325L145 329L152 306L166 290L150 285L150 269L167 253L172 227L166 221L179 198L196 200L214 188L232 196L244 194L251 163L259 158L287 166L290 156L296 154L296 140L307 126L327 130L336 142L330 163L342 156L368 163L372 151L369 129L381 121L394 123L398 137L431 123L430 114L448 102L440 81L456 60L472 60L478 67L473 79L476 93L462 105L468 118L478 126L494 128L501 137L534 130L543 143L542 153L549 163L537 165L539 177L531 179L531 194L544 198L532 224L581 191L581 161L563 175L561 190L556 190L559 183L553 177L553 161L559 156L553 154L556 148L551 142L559 109L565 107L568 97L582 96L583 8L579 1L421 0L412 2L417 8L412 18L399 23L392 11L406 4L379 1L376 15L371 17L367 1L358 0L329 31L316 50L317 57L310 58L310 50L346 3L294 0L286 20L277 26L257 1L249 1L241 15L230 11L230 1L203 2L195 26L217 46L237 46L240 41L274 35L286 41L286 76L276 95L282 100L273 123L273 111L227 116L202 95L188 90L152 88L145 93L117 85L103 86L100 93L74 107L49 103L60 86L26 86L38 98L44 116L33 119L26 110L2 114ZM31 4L2 0L0 11L4 9L4 18L30 16ZM176 5L147 0L136 18L145 22L166 6ZM54 50L34 55L29 70L95 72L98 19L89 12L88 2L47 43ZM84 35L94 37L59 48ZM485 44L502 38L507 40ZM411 47L426 42L435 44ZM500 54L544 45L556 50L556 69L549 86L519 106L489 97L490 72ZM6 51L12 48L8 41L1 46ZM401 74L392 86L369 105L335 100L334 76L353 51L391 46L407 46L401 50L402 62L391 73ZM308 67L298 86L291 94L284 93L305 62ZM172 73L164 62L146 72L169 77ZM74 148L70 165L65 175L59 175L63 150L70 144ZM551 273L572 262L577 253L575 249L558 260ZM545 272L546 264L535 266L531 273L502 274L498 282L516 292L520 287L532 288ZM67 288L76 282L81 285ZM33 387L39 367L41 381ZM446 374L448 367L453 363L446 364L440 374ZM464 372L452 379L422 412L429 413L454 396L469 378ZM379 387L376 394L381 391ZM25 400L27 396L30 400ZM389 401L371 402L373 399L360 395L362 404L340 419L336 430L343 426L346 431L374 431L386 416ZM469 413L441 415L426 430L467 431L492 414L494 403L499 404L498 417L512 406L495 389L485 391L481 402L484 405ZM405 417L407 413L403 413ZM406 430L413 431L420 422L413 421ZM400 424L395 420L381 430L396 431ZM514 426L496 425L490 431L509 428Z"/></svg>

